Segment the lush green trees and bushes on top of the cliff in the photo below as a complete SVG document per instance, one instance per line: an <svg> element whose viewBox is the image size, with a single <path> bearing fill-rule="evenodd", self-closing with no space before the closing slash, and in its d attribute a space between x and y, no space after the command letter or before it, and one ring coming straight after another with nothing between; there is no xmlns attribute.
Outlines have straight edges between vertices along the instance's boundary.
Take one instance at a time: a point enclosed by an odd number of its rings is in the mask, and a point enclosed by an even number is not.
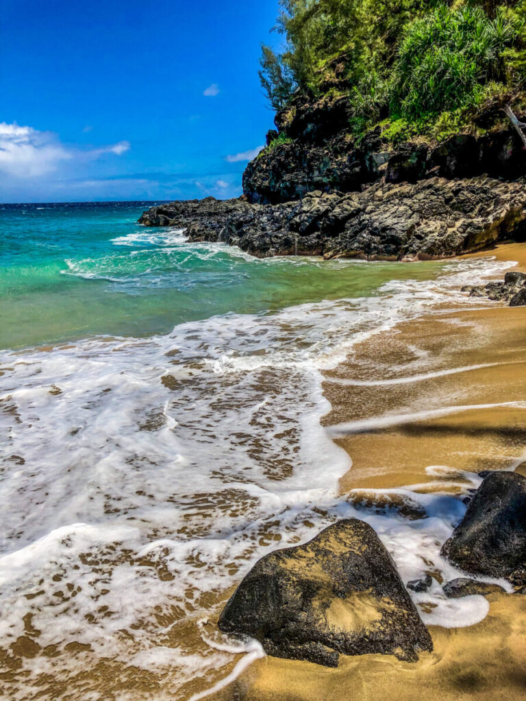
<svg viewBox="0 0 526 701"><path fill-rule="evenodd" d="M281 53L263 47L271 106L297 93L347 95L355 135L380 123L393 141L458 131L526 79L526 0L280 0Z"/></svg>

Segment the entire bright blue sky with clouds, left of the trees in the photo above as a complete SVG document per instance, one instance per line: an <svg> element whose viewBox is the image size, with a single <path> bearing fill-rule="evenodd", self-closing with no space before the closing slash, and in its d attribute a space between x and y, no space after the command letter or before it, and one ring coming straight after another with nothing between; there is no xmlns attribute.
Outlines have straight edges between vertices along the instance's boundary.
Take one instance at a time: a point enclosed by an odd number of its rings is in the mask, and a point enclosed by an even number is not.
<svg viewBox="0 0 526 701"><path fill-rule="evenodd" d="M0 201L241 194L277 0L2 0Z"/></svg>

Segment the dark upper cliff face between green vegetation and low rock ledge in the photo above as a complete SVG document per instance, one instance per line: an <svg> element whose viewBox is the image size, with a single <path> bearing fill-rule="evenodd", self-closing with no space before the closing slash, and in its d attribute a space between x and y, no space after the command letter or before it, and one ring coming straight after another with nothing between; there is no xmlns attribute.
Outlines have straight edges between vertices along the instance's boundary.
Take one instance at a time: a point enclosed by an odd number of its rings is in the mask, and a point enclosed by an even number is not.
<svg viewBox="0 0 526 701"><path fill-rule="evenodd" d="M518 111L518 116L525 118L526 113ZM396 146L381 127L353 139L350 120L347 97L325 95L317 102L297 97L276 116L278 131L269 132L267 148L245 170L243 192L248 201L275 204L313 190L358 191L379 180L526 175L526 151L499 109L478 116L471 133L457 133L440 142L418 137Z"/></svg>

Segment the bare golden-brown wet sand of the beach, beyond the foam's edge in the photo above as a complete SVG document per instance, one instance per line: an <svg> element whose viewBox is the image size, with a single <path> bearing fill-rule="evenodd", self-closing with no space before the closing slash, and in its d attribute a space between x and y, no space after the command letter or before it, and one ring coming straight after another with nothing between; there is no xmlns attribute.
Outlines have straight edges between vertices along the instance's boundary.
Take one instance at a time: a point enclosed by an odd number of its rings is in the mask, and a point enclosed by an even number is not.
<svg viewBox="0 0 526 701"><path fill-rule="evenodd" d="M500 246L491 254L518 261L515 269L526 271L526 244ZM437 310L377 334L327 374L324 391L332 411L324 423L353 462L340 482L342 495L375 508L382 502L377 490L461 494L460 471L526 475L526 308L484 300L480 306ZM441 472L440 466L449 469ZM224 698L526 699L526 597L487 599L490 612L476 625L431 626L434 651L417 663L342 655L337 669L327 669L267 657Z"/></svg>

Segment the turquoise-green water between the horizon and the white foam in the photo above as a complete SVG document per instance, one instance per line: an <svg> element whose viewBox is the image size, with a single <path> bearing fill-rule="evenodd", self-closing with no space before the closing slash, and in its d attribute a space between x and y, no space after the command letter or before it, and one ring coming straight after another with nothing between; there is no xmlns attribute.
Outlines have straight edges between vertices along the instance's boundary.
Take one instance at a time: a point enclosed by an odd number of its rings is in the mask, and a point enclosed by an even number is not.
<svg viewBox="0 0 526 701"><path fill-rule="evenodd" d="M3 205L0 347L144 336L217 314L361 297L393 279L433 278L441 263L260 261L136 224L148 203Z"/></svg>

